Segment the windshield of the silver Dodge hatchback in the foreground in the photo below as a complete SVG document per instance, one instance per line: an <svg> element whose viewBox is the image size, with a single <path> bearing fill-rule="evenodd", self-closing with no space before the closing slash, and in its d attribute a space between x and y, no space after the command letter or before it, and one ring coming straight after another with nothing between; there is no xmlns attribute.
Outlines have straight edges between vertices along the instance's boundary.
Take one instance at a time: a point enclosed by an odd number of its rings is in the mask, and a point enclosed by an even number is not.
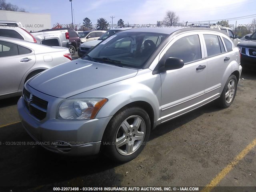
<svg viewBox="0 0 256 192"><path fill-rule="evenodd" d="M110 36L83 59L133 68L142 68L167 34L122 32Z"/></svg>

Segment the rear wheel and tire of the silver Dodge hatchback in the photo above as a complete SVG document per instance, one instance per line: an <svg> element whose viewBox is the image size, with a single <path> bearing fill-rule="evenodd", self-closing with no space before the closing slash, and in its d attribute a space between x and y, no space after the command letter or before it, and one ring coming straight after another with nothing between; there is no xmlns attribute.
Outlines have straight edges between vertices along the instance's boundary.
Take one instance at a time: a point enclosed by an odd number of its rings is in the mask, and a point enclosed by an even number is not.
<svg viewBox="0 0 256 192"><path fill-rule="evenodd" d="M235 99L237 90L237 79L233 74L228 78L222 94L219 98L219 105L222 108L228 108Z"/></svg>

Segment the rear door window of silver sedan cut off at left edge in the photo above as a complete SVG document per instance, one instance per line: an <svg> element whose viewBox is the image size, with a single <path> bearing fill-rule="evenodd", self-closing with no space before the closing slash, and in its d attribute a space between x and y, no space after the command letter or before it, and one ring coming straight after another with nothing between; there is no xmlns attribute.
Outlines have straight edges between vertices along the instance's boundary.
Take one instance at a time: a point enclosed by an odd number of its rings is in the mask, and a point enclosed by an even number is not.
<svg viewBox="0 0 256 192"><path fill-rule="evenodd" d="M0 41L0 57L18 55L18 45L10 42Z"/></svg>

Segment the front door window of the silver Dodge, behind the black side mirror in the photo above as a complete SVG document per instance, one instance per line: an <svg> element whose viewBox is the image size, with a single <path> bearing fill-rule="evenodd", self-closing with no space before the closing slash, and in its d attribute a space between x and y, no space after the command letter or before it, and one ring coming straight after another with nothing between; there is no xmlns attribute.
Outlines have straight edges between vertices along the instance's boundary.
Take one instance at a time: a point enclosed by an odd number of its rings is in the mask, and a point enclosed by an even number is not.
<svg viewBox="0 0 256 192"><path fill-rule="evenodd" d="M202 54L198 35L180 38L167 50L166 56L180 58L184 63L201 59Z"/></svg>

